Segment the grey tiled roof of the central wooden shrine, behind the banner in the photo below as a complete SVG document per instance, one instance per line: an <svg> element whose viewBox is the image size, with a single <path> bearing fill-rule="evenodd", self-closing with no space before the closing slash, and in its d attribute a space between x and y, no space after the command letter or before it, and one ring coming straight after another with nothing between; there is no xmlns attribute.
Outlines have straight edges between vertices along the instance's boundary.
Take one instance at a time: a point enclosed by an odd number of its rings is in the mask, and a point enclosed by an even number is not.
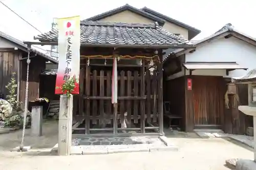
<svg viewBox="0 0 256 170"><path fill-rule="evenodd" d="M115 45L148 45L184 46L188 40L183 36L167 32L158 23L120 23L102 21L81 21L81 44L115 44ZM40 41L57 42L58 30L35 36Z"/></svg>

